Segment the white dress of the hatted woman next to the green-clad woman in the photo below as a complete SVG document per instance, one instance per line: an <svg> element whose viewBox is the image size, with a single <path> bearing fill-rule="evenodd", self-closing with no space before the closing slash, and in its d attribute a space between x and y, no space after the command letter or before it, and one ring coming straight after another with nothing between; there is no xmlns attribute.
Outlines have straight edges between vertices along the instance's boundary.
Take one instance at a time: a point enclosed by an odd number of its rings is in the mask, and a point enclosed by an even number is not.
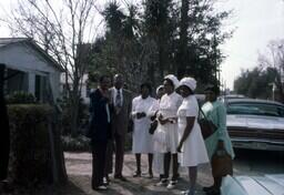
<svg viewBox="0 0 284 195"><path fill-rule="evenodd" d="M201 134L200 124L197 123L199 103L194 95L183 99L182 105L178 111L179 116L179 140L181 140L186 127L186 116L195 116L194 125L187 138L184 141L179 161L181 166L197 166L207 163L209 156L204 140Z"/></svg>

